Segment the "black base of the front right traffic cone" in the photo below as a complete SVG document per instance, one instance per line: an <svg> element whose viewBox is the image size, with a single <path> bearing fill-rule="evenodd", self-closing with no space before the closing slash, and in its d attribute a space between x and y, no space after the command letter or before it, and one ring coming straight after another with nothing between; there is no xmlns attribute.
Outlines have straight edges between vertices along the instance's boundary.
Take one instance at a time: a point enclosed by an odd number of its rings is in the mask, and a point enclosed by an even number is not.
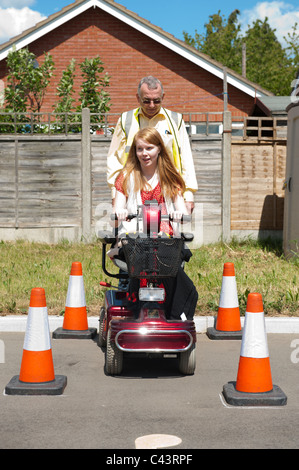
<svg viewBox="0 0 299 470"><path fill-rule="evenodd" d="M269 392L245 393L236 390L236 382L228 382L223 386L223 396L233 406L283 406L287 404L287 396L278 385L273 385Z"/></svg>

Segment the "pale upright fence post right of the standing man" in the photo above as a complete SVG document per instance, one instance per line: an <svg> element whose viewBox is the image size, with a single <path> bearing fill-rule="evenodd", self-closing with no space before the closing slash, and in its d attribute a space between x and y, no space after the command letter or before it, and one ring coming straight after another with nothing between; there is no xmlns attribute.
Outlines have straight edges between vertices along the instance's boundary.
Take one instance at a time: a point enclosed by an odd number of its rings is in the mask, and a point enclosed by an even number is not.
<svg viewBox="0 0 299 470"><path fill-rule="evenodd" d="M222 239L230 241L231 232L231 132L230 111L223 113L222 140Z"/></svg>

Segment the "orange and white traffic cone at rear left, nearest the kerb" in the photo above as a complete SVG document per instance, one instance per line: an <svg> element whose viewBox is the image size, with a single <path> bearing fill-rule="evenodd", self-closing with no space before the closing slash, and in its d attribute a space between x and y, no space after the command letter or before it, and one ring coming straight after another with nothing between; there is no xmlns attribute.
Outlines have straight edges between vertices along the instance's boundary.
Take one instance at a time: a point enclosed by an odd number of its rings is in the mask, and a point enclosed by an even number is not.
<svg viewBox="0 0 299 470"><path fill-rule="evenodd" d="M93 338L96 328L88 328L82 265L72 263L62 328L53 332L53 338Z"/></svg>

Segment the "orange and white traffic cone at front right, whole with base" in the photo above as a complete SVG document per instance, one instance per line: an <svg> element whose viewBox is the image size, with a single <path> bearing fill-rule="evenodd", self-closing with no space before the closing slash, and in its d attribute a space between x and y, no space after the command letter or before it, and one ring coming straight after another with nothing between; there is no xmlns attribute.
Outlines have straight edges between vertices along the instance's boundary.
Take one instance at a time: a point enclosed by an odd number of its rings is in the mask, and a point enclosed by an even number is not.
<svg viewBox="0 0 299 470"><path fill-rule="evenodd" d="M223 395L233 405L285 405L287 397L272 384L263 300L261 294L248 295L237 382L223 387Z"/></svg>

